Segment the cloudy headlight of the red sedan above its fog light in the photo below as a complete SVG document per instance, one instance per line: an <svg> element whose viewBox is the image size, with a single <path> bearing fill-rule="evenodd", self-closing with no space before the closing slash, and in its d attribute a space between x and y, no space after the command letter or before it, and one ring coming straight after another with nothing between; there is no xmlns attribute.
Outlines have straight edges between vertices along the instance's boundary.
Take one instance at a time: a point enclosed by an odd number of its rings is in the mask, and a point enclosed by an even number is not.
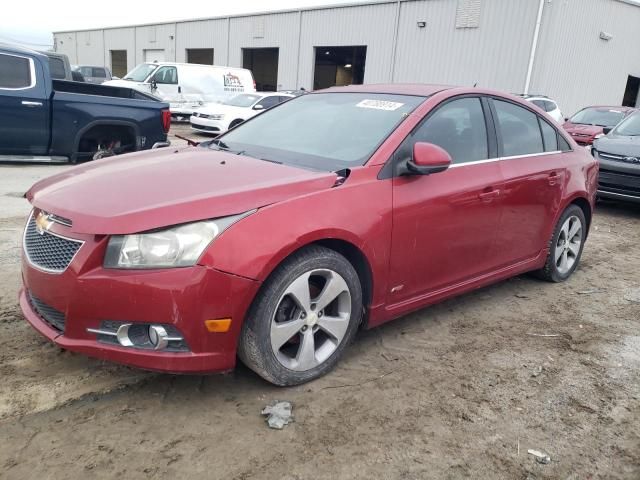
<svg viewBox="0 0 640 480"><path fill-rule="evenodd" d="M216 237L251 213L253 211L134 235L113 235L104 267L142 269L195 265Z"/></svg>

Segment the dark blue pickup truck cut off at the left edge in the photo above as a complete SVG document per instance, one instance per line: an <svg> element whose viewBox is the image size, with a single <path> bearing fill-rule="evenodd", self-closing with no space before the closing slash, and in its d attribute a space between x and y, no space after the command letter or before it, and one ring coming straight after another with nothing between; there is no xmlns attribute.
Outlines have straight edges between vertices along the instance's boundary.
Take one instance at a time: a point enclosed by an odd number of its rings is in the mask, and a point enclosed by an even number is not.
<svg viewBox="0 0 640 480"><path fill-rule="evenodd" d="M0 160L76 162L164 146L170 125L156 97L54 80L44 54L0 44Z"/></svg>

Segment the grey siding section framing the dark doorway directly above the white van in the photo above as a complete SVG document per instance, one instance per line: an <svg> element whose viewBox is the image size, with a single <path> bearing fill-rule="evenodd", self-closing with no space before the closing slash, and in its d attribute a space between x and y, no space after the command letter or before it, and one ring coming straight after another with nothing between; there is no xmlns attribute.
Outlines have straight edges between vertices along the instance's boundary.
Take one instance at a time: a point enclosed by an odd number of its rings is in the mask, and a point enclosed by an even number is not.
<svg viewBox="0 0 640 480"><path fill-rule="evenodd" d="M176 26L176 62L186 62L187 48L213 48L213 62L227 65L226 18L197 22L180 22Z"/></svg>

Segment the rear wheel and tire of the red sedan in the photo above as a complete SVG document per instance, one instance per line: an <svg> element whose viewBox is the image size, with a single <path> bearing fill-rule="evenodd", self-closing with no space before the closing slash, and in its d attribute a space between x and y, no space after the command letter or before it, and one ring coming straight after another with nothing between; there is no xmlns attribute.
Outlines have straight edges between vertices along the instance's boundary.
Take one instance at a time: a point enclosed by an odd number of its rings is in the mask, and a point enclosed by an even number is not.
<svg viewBox="0 0 640 480"><path fill-rule="evenodd" d="M587 221L584 212L577 205L570 205L553 230L544 267L534 274L548 282L564 282L580 263L586 235Z"/></svg>

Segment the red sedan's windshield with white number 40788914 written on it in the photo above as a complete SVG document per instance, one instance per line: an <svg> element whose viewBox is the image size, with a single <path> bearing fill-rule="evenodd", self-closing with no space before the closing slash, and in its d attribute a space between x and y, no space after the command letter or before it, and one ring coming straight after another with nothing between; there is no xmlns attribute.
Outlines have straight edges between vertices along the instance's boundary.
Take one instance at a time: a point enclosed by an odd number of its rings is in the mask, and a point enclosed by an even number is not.
<svg viewBox="0 0 640 480"><path fill-rule="evenodd" d="M217 145L287 165L342 170L366 163L424 100L376 93L304 95L253 117L219 137Z"/></svg>

